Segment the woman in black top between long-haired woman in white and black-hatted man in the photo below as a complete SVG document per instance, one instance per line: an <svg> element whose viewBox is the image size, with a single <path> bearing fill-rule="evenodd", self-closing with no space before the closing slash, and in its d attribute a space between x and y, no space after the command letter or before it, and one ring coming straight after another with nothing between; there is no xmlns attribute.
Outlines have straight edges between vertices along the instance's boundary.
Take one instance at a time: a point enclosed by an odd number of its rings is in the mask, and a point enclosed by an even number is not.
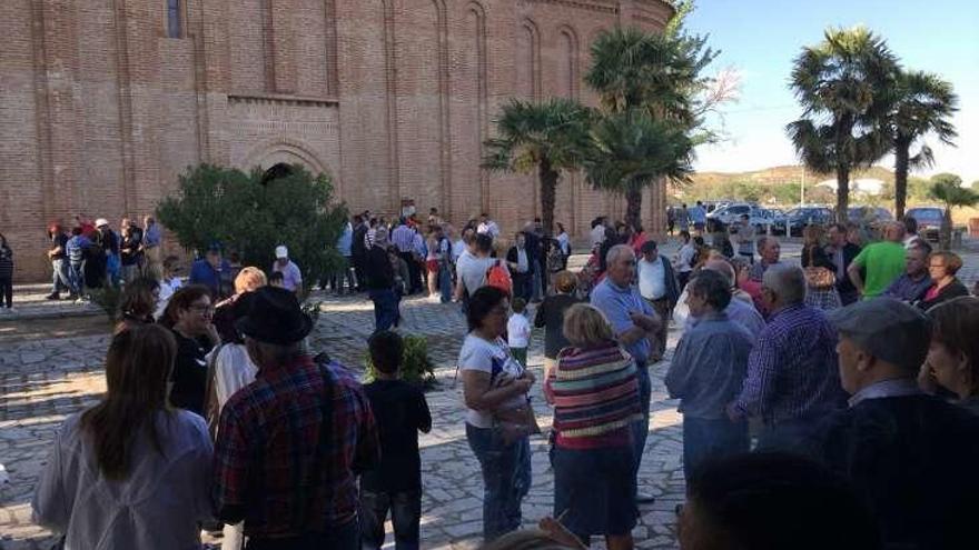
<svg viewBox="0 0 979 550"><path fill-rule="evenodd" d="M162 324L177 339L177 361L170 402L204 416L208 352L220 340L211 319L210 289L202 284L180 288L164 311Z"/></svg>

